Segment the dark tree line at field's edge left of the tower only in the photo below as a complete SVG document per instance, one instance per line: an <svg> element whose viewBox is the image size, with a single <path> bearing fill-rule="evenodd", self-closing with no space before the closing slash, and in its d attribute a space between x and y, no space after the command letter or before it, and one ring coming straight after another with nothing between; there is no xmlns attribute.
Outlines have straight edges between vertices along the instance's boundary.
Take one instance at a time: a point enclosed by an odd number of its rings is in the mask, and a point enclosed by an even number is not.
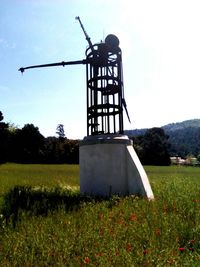
<svg viewBox="0 0 200 267"><path fill-rule="evenodd" d="M67 139L61 124L57 134L45 138L33 124L12 127L0 111L0 163L79 163L78 140Z"/></svg>

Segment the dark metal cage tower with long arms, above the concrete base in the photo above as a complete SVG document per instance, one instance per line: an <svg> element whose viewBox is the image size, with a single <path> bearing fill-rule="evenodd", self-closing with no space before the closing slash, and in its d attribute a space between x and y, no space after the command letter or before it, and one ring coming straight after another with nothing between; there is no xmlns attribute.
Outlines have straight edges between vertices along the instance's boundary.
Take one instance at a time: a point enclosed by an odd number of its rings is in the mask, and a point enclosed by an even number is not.
<svg viewBox="0 0 200 267"><path fill-rule="evenodd" d="M104 42L92 44L80 17L76 17L85 34L89 47L86 59L62 61L20 68L27 69L86 64L87 79L87 135L123 134L123 108L130 121L124 99L122 53L119 39L109 34Z"/></svg>

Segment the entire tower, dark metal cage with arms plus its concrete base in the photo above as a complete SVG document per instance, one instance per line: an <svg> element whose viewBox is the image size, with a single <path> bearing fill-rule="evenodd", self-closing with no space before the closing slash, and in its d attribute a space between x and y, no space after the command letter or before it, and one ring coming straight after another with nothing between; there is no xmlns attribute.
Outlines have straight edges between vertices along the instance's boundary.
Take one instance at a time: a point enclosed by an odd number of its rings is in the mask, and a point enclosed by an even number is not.
<svg viewBox="0 0 200 267"><path fill-rule="evenodd" d="M104 42L92 44L80 17L76 17L88 47L86 58L27 69L86 65L87 136L80 141L80 191L82 194L109 196L139 194L153 198L153 192L132 141L124 135L123 110L129 114L124 98L122 51L119 39L109 34Z"/></svg>

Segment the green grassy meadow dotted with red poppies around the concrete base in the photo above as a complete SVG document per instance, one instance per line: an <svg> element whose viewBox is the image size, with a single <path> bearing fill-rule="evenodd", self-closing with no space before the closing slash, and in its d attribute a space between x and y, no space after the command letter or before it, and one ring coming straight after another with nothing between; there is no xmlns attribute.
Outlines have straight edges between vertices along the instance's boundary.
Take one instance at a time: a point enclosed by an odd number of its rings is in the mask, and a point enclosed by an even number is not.
<svg viewBox="0 0 200 267"><path fill-rule="evenodd" d="M154 201L81 196L78 165L0 165L0 266L200 266L200 168L145 169Z"/></svg>

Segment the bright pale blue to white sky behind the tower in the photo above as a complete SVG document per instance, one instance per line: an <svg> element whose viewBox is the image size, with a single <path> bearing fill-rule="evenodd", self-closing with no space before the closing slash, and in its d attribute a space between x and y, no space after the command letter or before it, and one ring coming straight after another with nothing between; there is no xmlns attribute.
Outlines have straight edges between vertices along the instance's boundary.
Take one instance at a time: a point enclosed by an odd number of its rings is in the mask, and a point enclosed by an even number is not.
<svg viewBox="0 0 200 267"><path fill-rule="evenodd" d="M199 0L0 0L0 111L44 136L86 135L85 66L17 70L85 58L112 33L123 53L125 129L200 118ZM125 116L125 114L124 114Z"/></svg>

